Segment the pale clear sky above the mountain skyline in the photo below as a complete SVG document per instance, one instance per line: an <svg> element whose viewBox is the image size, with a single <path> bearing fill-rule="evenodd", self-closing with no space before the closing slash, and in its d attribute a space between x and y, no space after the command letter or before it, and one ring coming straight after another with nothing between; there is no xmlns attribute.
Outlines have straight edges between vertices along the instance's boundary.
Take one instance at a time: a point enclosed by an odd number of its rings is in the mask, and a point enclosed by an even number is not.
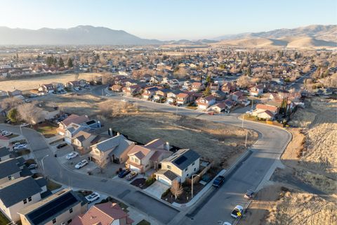
<svg viewBox="0 0 337 225"><path fill-rule="evenodd" d="M314 24L337 24L336 0L0 0L0 26L93 25L162 40Z"/></svg>

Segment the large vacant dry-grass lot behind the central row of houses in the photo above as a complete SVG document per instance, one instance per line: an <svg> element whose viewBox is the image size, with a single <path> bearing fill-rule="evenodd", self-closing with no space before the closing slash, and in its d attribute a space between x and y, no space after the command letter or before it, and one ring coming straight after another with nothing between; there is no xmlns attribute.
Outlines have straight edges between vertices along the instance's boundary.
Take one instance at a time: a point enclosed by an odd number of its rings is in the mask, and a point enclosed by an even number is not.
<svg viewBox="0 0 337 225"><path fill-rule="evenodd" d="M192 148L204 158L214 160L220 167L228 167L246 150L246 129L239 127L135 108L135 105L117 111L119 101L105 100L91 94L44 96L41 99L47 107L58 105L60 110L67 113L98 117L106 129L111 127L133 141L147 143L161 138L169 141L171 146ZM257 138L255 131L249 131L247 144L250 146Z"/></svg>

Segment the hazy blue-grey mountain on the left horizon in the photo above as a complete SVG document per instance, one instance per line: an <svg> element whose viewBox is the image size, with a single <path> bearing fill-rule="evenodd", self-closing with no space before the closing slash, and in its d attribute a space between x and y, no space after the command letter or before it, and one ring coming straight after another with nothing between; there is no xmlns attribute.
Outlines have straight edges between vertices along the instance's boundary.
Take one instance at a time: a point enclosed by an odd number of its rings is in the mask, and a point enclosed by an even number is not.
<svg viewBox="0 0 337 225"><path fill-rule="evenodd" d="M69 29L41 28L27 30L0 27L1 45L147 45L161 44L154 39L141 39L124 30L106 27L77 26Z"/></svg>

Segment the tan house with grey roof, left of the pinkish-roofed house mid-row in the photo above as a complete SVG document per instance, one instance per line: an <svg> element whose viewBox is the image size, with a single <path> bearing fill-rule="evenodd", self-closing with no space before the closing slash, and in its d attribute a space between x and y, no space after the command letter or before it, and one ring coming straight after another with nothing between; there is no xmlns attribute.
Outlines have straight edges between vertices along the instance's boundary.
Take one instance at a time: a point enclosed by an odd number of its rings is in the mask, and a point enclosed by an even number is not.
<svg viewBox="0 0 337 225"><path fill-rule="evenodd" d="M120 164L128 160L128 152L133 146L135 146L133 141L129 141L125 136L119 134L91 146L90 155L96 162Z"/></svg>

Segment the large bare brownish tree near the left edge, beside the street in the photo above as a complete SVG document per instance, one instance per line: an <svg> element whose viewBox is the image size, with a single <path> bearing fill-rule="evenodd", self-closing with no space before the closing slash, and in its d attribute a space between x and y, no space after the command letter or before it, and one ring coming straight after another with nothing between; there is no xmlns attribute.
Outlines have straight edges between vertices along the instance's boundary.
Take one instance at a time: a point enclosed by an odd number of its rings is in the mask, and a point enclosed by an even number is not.
<svg viewBox="0 0 337 225"><path fill-rule="evenodd" d="M37 107L37 102L25 103L18 106L18 113L21 120L29 124L37 124L44 120L42 109Z"/></svg>

